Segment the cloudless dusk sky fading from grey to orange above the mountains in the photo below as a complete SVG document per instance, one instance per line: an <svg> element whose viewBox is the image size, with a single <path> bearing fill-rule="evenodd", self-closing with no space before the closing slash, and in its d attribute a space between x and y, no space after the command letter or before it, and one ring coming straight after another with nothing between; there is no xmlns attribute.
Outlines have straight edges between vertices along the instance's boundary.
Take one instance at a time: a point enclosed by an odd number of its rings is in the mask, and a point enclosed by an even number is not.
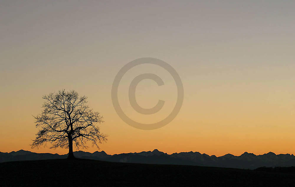
<svg viewBox="0 0 295 187"><path fill-rule="evenodd" d="M32 115L43 95L76 90L104 116L108 154L158 149L221 156L295 154L295 1L0 1L0 151L31 149ZM162 128L140 130L117 115L114 77L128 62L153 57L180 76L183 105ZM164 100L152 115L134 111L128 88L142 80L141 107ZM142 64L122 78L119 103L130 118L155 123L172 111L176 84L163 68ZM94 152L96 147L82 149Z"/></svg>

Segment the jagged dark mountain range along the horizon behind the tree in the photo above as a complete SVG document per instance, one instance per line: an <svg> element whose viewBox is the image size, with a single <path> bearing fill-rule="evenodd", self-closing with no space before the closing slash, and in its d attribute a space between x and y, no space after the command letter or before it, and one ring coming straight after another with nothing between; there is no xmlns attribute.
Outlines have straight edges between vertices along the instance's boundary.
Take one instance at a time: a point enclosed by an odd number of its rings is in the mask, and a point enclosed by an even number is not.
<svg viewBox="0 0 295 187"><path fill-rule="evenodd" d="M292 154L279 154L269 152L263 155L254 155L253 153L243 153L240 156L226 154L216 157L209 156L199 152L182 152L168 155L157 149L153 151L143 151L140 153L122 153L108 155L104 151L96 151L94 153L76 151L76 158L102 160L109 162L124 163L146 163L146 164L175 164L190 166L210 166L222 168L240 168L255 169L259 167L289 167L295 166L295 156ZM47 160L47 159L63 159L67 155L58 155L51 153L32 153L30 151L19 150L11 153L0 152L0 162L19 161L19 160Z"/></svg>

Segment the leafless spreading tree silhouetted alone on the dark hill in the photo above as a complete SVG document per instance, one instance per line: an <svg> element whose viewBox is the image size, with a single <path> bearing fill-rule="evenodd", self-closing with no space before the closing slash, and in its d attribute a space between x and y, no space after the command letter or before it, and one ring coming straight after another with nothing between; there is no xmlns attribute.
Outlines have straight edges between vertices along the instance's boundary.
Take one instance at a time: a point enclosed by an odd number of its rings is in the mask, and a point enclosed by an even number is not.
<svg viewBox="0 0 295 187"><path fill-rule="evenodd" d="M87 148L87 141L99 148L97 144L107 140L96 125L104 122L103 117L89 109L86 96L79 97L74 90L60 90L42 98L45 99L43 112L34 116L39 131L32 148L40 148L49 142L50 148L68 148L68 158L74 158L73 142L77 149Z"/></svg>

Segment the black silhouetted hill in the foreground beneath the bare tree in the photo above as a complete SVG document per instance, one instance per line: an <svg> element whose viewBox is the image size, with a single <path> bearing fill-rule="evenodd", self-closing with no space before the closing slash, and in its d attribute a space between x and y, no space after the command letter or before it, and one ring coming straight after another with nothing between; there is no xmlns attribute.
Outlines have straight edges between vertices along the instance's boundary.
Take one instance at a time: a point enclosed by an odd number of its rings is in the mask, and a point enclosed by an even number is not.
<svg viewBox="0 0 295 187"><path fill-rule="evenodd" d="M294 173L97 160L0 163L0 186L294 186Z"/></svg>

